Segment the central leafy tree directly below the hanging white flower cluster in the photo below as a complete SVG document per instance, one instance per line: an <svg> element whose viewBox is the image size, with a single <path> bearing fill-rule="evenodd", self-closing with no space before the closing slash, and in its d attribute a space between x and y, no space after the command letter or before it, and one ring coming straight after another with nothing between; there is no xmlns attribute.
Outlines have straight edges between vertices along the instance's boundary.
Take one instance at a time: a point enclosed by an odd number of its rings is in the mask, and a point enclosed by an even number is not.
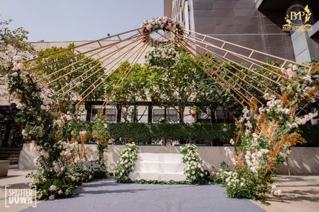
<svg viewBox="0 0 319 212"><path fill-rule="evenodd" d="M152 102L165 107L173 107L179 114L179 122L184 122L185 107L194 101L196 96L196 85L201 81L199 70L194 64L194 57L179 51L179 59L172 66L173 59L162 59L155 66L150 67L151 72L156 72L157 78L150 83L150 98ZM163 62L167 60L167 62Z"/></svg>

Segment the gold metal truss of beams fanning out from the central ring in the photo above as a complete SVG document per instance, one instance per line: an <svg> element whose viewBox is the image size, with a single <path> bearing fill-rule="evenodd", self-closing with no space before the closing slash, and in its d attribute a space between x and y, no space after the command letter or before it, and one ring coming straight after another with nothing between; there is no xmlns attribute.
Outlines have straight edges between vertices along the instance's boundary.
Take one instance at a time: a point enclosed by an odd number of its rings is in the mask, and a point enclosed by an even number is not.
<svg viewBox="0 0 319 212"><path fill-rule="evenodd" d="M153 20L151 20L151 23L152 21ZM172 30L173 28L157 28L155 30L148 30L145 27L148 23L143 23L144 27L142 28L103 37L99 40L86 42L82 45L77 45L69 49L62 49L51 54L46 54L42 57L35 57L25 61L24 64L26 67L30 67L27 71L36 71L54 66L55 64L62 63L63 61L73 61L71 64L38 79L38 81L45 83L47 86L55 81L60 81L63 78L66 78L71 73L76 73L85 66L94 64L94 66L89 66L90 68L87 71L77 78L74 78L72 81L67 83L67 85L60 88L60 90L56 90L54 95L60 96L65 96L72 92L72 90L80 88L86 81L89 81L92 76L99 71L104 70L101 78L96 79L96 81L91 83L86 90L74 97L74 101L78 101L77 106L82 104L82 102L86 100L86 98L93 93L96 88L103 86L103 83L114 71L116 71L123 61L129 61L131 64L130 67L133 67L136 63L144 62L145 53L151 47L161 48L179 46L194 57L198 57L198 67L206 72L211 78L218 78L216 83L220 86L220 89L225 90L228 95L242 106L253 106L256 103L258 105L262 105L262 102L260 102L260 100L249 90L256 90L261 95L264 95L264 93L272 93L277 97L280 97L281 94L277 93L276 90L272 90L269 84L281 86L281 80L288 79L281 73L281 68L284 66L296 64L298 67L303 67L310 71L310 66L306 66L305 64L298 64L295 61L266 54L255 49L220 40L216 37L203 35L190 30L184 30L180 23L174 22L170 19L168 21L170 21L169 23L173 23L173 25L175 23L176 28L174 30ZM83 49L87 50L84 51ZM48 57L62 52L71 52L72 56L64 59L56 59L54 61L47 60ZM82 59L74 60L74 58L81 55L84 56ZM213 56L214 59L208 57L208 55ZM88 58L93 58L93 61L76 68L77 64ZM268 64L267 61L278 61L281 63L281 66ZM99 69L94 69L96 66L98 66ZM259 73L256 71L256 68L262 68L265 73L268 74ZM118 83L128 76L131 69L132 68L128 68L128 70L125 70L123 76L118 80ZM65 73L65 70L71 71ZM238 76L236 72L240 73L241 76ZM52 76L57 76L59 73L64 74L58 78L52 78ZM269 74L271 74L272 77L269 77ZM230 76L234 76L237 81ZM255 78L254 76L259 76L259 78ZM255 84L247 81L248 79L250 79L250 81L254 81ZM262 81L260 79L262 79ZM112 96L108 96L106 100L104 100L100 110L103 110L104 107L106 107L111 98Z"/></svg>

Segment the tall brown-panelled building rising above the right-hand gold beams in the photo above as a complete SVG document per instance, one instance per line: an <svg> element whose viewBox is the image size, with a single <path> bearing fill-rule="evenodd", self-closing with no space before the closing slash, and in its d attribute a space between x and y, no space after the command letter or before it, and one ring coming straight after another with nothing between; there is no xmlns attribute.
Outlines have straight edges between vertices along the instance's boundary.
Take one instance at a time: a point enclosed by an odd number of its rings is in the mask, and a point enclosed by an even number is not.
<svg viewBox="0 0 319 212"><path fill-rule="evenodd" d="M309 6L313 30L282 30L293 4ZM298 62L319 58L318 13L318 0L164 0L164 15L187 30Z"/></svg>

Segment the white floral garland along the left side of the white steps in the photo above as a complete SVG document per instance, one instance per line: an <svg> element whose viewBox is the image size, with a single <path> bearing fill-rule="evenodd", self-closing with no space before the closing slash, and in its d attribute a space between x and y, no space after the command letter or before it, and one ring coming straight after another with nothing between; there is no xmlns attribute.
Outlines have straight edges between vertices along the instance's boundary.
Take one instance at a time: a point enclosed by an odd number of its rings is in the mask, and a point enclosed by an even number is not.
<svg viewBox="0 0 319 212"><path fill-rule="evenodd" d="M128 175L135 168L136 160L140 148L135 143L127 143L126 147L121 151L118 165L116 166L115 178L116 182L128 182Z"/></svg>

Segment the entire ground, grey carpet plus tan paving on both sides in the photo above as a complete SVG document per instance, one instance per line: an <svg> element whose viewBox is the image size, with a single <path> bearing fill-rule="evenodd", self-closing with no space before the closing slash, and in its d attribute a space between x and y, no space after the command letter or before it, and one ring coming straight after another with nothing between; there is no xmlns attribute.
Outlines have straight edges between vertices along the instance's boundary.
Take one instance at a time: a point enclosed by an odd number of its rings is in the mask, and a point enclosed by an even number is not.
<svg viewBox="0 0 319 212"><path fill-rule="evenodd" d="M0 211L21 211L27 205L4 208L4 186L28 187L30 170L11 166L8 177L0 177ZM280 197L269 197L270 206L256 201L228 199L225 189L204 185L146 185L116 184L103 179L86 184L77 190L77 196L55 201L38 201L38 207L26 211L318 211L319 176L285 176L275 178L283 191Z"/></svg>

